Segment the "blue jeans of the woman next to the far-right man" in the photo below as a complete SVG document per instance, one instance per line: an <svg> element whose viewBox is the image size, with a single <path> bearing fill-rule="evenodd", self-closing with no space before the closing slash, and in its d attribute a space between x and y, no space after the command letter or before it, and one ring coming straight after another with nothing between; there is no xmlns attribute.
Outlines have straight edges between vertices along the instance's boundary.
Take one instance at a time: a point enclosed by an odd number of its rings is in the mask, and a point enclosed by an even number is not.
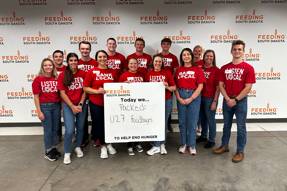
<svg viewBox="0 0 287 191"><path fill-rule="evenodd" d="M207 138L209 129L208 141L215 142L216 136L216 122L215 113L218 103L216 103L215 110L211 111L211 104L214 102L214 97L201 97L199 116L201 119L201 137Z"/></svg>

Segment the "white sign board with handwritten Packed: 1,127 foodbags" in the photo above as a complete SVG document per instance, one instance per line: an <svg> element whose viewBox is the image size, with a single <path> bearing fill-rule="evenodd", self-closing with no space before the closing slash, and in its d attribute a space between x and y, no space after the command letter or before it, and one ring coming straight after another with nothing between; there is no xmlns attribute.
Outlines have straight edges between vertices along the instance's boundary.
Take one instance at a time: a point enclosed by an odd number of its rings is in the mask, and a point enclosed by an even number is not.
<svg viewBox="0 0 287 191"><path fill-rule="evenodd" d="M165 87L154 83L105 83L105 141L164 140Z"/></svg>

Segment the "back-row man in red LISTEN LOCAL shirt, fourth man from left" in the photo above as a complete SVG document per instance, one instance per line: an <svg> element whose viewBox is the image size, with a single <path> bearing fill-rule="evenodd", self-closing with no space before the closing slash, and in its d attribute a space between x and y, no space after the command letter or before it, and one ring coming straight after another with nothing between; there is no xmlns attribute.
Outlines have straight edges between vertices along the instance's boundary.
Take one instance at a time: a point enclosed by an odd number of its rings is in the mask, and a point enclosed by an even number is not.
<svg viewBox="0 0 287 191"><path fill-rule="evenodd" d="M140 71L144 74L149 71L148 65L152 61L152 57L146 53L144 53L145 48L145 42L142 38L137 38L135 40L135 53L127 56L127 62L130 58L136 58L139 62L139 67L137 68L137 71Z"/></svg>

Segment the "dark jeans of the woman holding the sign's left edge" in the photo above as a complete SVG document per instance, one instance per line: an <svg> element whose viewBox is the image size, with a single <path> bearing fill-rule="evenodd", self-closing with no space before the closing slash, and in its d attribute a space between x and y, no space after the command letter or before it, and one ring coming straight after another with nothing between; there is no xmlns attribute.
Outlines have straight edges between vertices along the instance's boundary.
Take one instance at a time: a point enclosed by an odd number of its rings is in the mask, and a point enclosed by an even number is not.
<svg viewBox="0 0 287 191"><path fill-rule="evenodd" d="M96 122L96 134L100 141L100 145L106 145L105 142L105 121L104 121L104 106L96 105L90 101L90 113L93 115Z"/></svg>

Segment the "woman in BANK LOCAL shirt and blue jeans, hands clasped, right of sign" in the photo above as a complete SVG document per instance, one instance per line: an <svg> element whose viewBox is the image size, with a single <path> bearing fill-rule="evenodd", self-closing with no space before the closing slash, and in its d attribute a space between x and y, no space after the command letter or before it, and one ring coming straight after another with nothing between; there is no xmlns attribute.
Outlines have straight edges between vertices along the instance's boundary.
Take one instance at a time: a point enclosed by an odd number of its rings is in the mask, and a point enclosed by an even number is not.
<svg viewBox="0 0 287 191"><path fill-rule="evenodd" d="M206 83L202 69L195 64L193 52L190 48L184 48L180 54L180 67L174 74L177 85L174 91L177 97L177 110L179 130L181 134L181 146L179 153L185 153L187 147L189 154L196 155L195 139L196 127L200 108L200 91L203 83ZM187 134L187 129L188 134Z"/></svg>

